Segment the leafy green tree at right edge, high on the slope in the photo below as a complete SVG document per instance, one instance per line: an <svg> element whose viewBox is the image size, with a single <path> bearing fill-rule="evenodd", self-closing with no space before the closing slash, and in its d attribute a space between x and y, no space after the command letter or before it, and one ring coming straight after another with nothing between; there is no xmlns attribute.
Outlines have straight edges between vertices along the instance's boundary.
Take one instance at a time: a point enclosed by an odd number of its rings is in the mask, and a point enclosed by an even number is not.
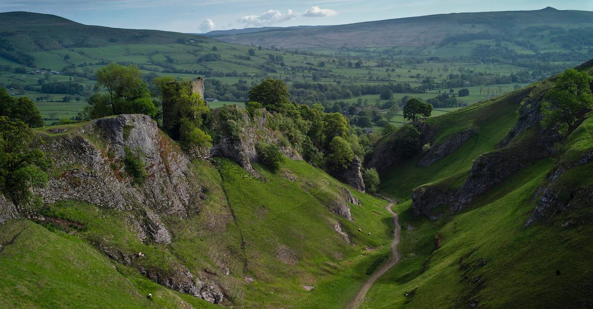
<svg viewBox="0 0 593 309"><path fill-rule="evenodd" d="M546 94L547 101L541 103L544 127L557 127L563 135L572 132L579 118L593 108L591 82L586 72L568 69L562 73Z"/></svg>

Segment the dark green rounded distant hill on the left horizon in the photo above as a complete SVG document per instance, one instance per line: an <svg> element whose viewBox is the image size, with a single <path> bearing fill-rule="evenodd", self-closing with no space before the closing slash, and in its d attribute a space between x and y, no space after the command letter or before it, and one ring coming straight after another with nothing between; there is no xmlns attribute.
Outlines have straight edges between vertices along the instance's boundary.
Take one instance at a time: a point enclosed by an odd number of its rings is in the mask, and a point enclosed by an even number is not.
<svg viewBox="0 0 593 309"><path fill-rule="evenodd" d="M31 12L0 13L0 29L1 43L23 51L208 40L195 34L83 25L55 15ZM0 50L6 47L0 46Z"/></svg>

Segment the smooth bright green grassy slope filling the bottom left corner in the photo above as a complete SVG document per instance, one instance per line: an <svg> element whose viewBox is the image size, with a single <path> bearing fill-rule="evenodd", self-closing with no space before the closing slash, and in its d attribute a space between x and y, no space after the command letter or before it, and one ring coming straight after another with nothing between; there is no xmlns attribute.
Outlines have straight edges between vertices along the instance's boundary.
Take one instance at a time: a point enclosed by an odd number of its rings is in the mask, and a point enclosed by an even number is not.
<svg viewBox="0 0 593 309"><path fill-rule="evenodd" d="M0 226L0 242L2 308L215 307L148 281L77 236L28 220Z"/></svg>

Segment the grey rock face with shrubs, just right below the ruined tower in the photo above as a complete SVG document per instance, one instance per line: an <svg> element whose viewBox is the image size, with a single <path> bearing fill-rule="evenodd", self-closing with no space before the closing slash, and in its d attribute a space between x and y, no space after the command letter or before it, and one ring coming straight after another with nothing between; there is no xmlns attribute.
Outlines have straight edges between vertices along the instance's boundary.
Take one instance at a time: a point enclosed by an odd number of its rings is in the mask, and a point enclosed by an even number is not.
<svg viewBox="0 0 593 309"><path fill-rule="evenodd" d="M238 119L234 120L241 128L241 132L238 136L224 133L225 130L221 127L224 127L225 124L216 120L217 118L220 118L218 116L221 112L225 112L224 109L233 111L238 115ZM280 140L282 139L281 133L270 130L267 127L267 118L269 116L270 114L265 108L259 110L259 113L253 117L250 117L246 110L236 107L235 105L214 110L213 118L215 121L212 124L213 130L222 132L223 134L221 134L221 136L219 136L212 144L210 156L227 157L228 159L239 163L241 167L252 175L255 175L256 172L251 166L251 162L259 162L256 150L257 143L280 144ZM299 155L295 149L292 149L291 146L280 145L279 148L283 155L291 159L302 160L301 155Z"/></svg>

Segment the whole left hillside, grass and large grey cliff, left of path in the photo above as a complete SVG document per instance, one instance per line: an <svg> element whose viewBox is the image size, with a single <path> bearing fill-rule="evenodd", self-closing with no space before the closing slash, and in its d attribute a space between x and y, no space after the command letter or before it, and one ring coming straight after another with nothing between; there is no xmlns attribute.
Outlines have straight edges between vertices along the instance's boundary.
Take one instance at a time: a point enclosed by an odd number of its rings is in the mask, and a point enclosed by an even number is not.
<svg viewBox="0 0 593 309"><path fill-rule="evenodd" d="M118 128L110 125L128 118L136 128L127 127L123 143L151 140L146 152L158 140L142 185L119 166L109 137ZM0 307L209 307L205 298L342 308L388 252L387 201L299 160L278 172L253 163L253 173L218 157L181 160L179 147L142 119L36 129L55 168L38 192L44 207L0 226Z"/></svg>

